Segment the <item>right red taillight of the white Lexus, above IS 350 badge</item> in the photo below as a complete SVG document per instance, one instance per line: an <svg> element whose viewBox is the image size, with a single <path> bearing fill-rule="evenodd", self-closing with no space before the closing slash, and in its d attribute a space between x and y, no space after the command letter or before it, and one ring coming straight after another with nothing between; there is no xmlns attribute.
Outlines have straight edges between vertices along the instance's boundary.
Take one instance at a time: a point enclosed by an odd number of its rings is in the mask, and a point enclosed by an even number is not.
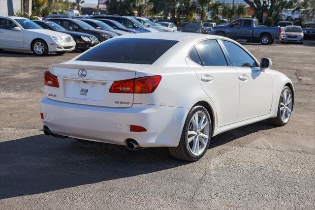
<svg viewBox="0 0 315 210"><path fill-rule="evenodd" d="M115 81L109 92L116 93L152 93L157 89L162 77L160 75L139 77L129 80Z"/></svg>

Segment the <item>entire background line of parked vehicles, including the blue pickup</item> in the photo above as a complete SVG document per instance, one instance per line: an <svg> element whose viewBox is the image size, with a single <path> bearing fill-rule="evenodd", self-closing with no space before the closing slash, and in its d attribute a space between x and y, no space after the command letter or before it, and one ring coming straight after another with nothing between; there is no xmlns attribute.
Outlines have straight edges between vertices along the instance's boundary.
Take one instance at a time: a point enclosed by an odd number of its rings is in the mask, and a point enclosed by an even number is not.
<svg viewBox="0 0 315 210"><path fill-rule="evenodd" d="M94 15L88 18L64 18L50 16L44 20L31 21L22 17L0 16L0 50L32 50L35 55L49 52L64 54L68 51L87 50L96 44L115 36L142 32L194 32L226 36L232 39L247 39L272 44L276 39L282 42L303 43L304 35L315 36L315 23L299 26L263 27L257 19L237 19L228 24L154 23L148 18Z"/></svg>

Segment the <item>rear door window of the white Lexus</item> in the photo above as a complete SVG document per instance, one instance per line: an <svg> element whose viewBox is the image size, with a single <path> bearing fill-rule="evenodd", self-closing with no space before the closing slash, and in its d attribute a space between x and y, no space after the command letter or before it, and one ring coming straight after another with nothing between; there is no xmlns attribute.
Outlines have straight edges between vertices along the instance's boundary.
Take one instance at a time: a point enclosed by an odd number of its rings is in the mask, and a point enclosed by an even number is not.
<svg viewBox="0 0 315 210"><path fill-rule="evenodd" d="M206 40L195 46L202 65L205 66L227 66L224 54L217 40Z"/></svg>

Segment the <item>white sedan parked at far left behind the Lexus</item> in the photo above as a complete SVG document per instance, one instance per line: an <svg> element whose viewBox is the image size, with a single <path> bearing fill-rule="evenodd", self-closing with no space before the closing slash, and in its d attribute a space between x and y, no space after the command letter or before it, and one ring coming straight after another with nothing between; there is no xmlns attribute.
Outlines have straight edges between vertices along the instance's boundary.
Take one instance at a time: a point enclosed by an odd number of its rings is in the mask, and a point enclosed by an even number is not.
<svg viewBox="0 0 315 210"><path fill-rule="evenodd" d="M46 30L22 17L0 16L0 49L32 50L37 56L74 50L75 41L66 34Z"/></svg>

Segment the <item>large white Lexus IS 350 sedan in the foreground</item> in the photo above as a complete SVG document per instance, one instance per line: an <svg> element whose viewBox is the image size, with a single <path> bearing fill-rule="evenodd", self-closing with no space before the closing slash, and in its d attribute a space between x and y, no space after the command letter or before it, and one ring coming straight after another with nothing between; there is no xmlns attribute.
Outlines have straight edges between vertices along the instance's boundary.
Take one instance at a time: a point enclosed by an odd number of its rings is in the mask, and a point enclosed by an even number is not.
<svg viewBox="0 0 315 210"><path fill-rule="evenodd" d="M133 150L168 147L196 161L219 133L288 122L293 85L270 66L222 36L115 37L45 72L44 133Z"/></svg>

